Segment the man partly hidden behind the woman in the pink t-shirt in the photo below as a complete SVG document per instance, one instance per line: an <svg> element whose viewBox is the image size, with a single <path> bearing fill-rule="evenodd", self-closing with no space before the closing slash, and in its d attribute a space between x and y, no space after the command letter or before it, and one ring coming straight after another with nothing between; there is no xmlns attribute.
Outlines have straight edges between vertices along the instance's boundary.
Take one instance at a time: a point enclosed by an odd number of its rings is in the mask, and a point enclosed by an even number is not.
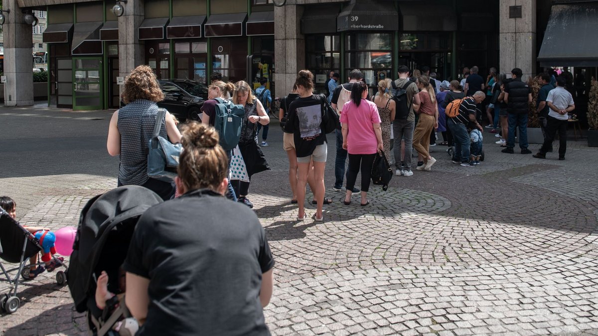
<svg viewBox="0 0 598 336"><path fill-rule="evenodd" d="M333 109L335 109L335 111L337 111L338 115L340 115L341 111L343 111L344 103L351 100L351 88L353 83L361 81L363 78L364 75L361 73L361 70L353 69L351 72L349 72L349 82L344 83L343 85L338 85L334 89L330 105ZM338 124L337 130L334 133L336 135L337 142L337 156L336 160L334 161L335 181L333 189L334 191L341 191L343 188L344 169L347 161L347 150L343 149L343 133L341 132L340 124ZM353 188L353 193L359 193L359 189Z"/></svg>

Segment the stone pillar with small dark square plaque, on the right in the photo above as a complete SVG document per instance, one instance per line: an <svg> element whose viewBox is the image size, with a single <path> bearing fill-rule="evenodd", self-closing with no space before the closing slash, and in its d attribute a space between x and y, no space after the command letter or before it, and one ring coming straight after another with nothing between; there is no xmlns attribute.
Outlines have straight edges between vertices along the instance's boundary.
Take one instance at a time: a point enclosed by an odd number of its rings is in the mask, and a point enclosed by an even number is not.
<svg viewBox="0 0 598 336"><path fill-rule="evenodd" d="M509 7L521 6L520 18L509 18ZM500 2L500 71L510 74L512 68L523 71L523 81L536 74L536 0L504 0Z"/></svg>

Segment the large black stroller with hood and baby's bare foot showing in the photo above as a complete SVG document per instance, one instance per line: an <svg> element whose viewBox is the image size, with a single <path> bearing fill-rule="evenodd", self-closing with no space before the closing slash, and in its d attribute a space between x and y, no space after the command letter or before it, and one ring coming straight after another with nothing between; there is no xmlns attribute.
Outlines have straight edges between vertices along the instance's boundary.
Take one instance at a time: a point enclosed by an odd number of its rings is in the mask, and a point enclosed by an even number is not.
<svg viewBox="0 0 598 336"><path fill-rule="evenodd" d="M107 302L103 311L97 308L97 277L106 271L108 291L121 294L119 268L127 257L135 225L145 210L161 202L153 191L128 185L91 198L81 210L67 271L68 285L77 311L87 311L94 335L109 334L114 323L128 314L118 300Z"/></svg>

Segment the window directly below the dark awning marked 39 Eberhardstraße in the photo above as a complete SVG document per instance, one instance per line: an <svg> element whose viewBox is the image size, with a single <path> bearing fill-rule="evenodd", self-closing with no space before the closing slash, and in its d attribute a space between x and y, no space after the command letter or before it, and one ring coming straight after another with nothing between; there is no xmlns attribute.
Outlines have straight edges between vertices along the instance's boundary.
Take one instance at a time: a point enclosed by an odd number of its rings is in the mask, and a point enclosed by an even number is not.
<svg viewBox="0 0 598 336"><path fill-rule="evenodd" d="M370 87L392 78L391 33L352 33L346 36L346 45L347 74L352 69L361 69Z"/></svg>

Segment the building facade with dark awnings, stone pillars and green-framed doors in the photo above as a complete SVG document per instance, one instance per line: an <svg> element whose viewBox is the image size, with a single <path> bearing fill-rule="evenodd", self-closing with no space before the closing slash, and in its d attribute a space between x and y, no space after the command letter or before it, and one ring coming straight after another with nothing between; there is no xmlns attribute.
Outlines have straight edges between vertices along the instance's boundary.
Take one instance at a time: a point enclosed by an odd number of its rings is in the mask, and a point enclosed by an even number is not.
<svg viewBox="0 0 598 336"><path fill-rule="evenodd" d="M276 2L128 0L117 17L115 0L4 0L5 7L47 11L49 102L72 109L117 108L117 78L141 64L158 78L204 84L213 72L254 85L268 77L275 96L291 90L301 69L314 72L318 91L330 71L342 81L353 68L371 87L395 78L400 65L428 66L440 79L457 79L474 65L483 75L517 67L529 77L538 72L553 3L570 1Z"/></svg>

